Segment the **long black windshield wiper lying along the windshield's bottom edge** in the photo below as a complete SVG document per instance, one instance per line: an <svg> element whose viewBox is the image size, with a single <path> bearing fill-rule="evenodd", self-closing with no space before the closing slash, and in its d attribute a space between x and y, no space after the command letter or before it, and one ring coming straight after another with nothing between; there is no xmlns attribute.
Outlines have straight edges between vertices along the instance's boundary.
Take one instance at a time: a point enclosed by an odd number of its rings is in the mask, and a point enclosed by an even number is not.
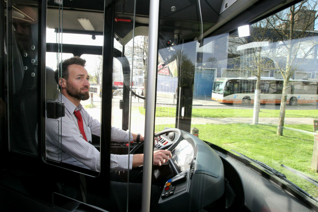
<svg viewBox="0 0 318 212"><path fill-rule="evenodd" d="M255 160L255 159L252 159L252 158L249 158L247 157L246 155L242 154L242 153L239 153L233 149L231 149L232 152L235 152L236 154L242 156L243 158L245 158L246 161L249 161L257 166L259 166L260 168L266 170L267 172L269 172L269 174L274 174L275 176L277 176L279 179L283 180L284 182L286 182L289 186L291 186L292 188L294 188L294 190L297 190L299 191L301 194L303 195L306 195L307 197L315 200L315 202L318 202L318 200L316 200L312 195L308 194L306 191L304 191L302 188L298 187L295 183L293 183L292 181L289 181L287 179L287 177L285 176L285 174L283 173L280 173L279 171L277 171L276 169L268 166L267 164L261 162L261 161L258 161L258 160Z"/></svg>

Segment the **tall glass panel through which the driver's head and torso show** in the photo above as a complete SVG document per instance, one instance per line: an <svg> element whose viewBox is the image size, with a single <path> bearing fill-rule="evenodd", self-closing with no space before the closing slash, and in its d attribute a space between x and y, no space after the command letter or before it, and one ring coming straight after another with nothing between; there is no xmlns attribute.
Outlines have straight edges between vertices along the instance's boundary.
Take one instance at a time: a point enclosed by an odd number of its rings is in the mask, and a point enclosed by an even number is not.
<svg viewBox="0 0 318 212"><path fill-rule="evenodd" d="M103 24L89 17L103 11L71 6L82 10L77 19L70 18L70 5L47 7L46 157L62 167L99 172ZM85 32L88 25L93 28Z"/></svg>

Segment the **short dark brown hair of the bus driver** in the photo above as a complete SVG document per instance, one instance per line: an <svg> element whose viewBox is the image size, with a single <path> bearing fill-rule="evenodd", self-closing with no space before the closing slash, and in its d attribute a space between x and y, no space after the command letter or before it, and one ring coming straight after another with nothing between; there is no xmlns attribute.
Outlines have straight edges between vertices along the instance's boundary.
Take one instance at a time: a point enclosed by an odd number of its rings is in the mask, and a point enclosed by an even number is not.
<svg viewBox="0 0 318 212"><path fill-rule="evenodd" d="M81 66L85 66L86 60L83 58L80 58L79 56L75 56L72 58L68 58L65 60L62 60L62 62L59 63L59 67L58 69L55 70L55 80L57 82L57 84L59 85L59 77L62 77L63 79L68 79L68 66L76 64L76 65L81 65ZM59 69L62 69L62 76L59 76ZM59 87L59 89L61 89Z"/></svg>

